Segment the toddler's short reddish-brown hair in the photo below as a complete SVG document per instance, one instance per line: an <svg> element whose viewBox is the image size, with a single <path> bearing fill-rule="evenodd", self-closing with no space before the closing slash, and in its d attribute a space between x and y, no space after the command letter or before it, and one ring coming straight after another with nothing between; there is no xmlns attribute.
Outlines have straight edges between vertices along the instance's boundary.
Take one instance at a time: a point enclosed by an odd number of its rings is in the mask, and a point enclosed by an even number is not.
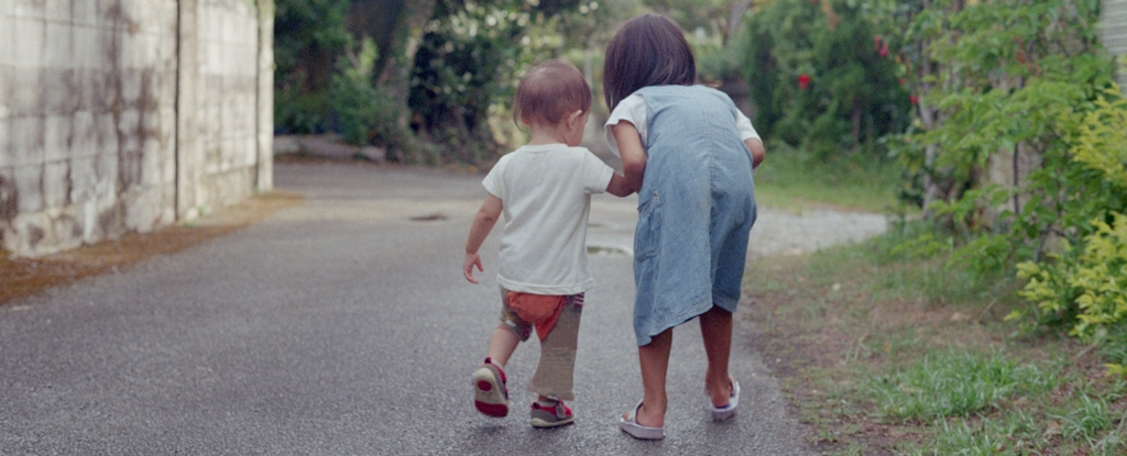
<svg viewBox="0 0 1127 456"><path fill-rule="evenodd" d="M570 63L552 60L529 71L516 87L513 120L554 125L576 110L591 111L591 86Z"/></svg>

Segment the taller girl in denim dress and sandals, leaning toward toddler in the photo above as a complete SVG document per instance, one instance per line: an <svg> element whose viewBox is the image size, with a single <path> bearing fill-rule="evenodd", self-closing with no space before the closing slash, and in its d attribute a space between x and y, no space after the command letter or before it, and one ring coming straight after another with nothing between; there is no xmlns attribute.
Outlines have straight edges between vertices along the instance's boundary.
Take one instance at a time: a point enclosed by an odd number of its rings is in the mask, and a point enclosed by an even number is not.
<svg viewBox="0 0 1127 456"><path fill-rule="evenodd" d="M709 408L717 420L736 414L731 314L755 222L752 170L764 151L726 95L696 86L692 50L664 16L631 19L611 38L603 89L612 109L607 141L638 191L633 327L644 395L619 427L660 439L673 328L698 316Z"/></svg>

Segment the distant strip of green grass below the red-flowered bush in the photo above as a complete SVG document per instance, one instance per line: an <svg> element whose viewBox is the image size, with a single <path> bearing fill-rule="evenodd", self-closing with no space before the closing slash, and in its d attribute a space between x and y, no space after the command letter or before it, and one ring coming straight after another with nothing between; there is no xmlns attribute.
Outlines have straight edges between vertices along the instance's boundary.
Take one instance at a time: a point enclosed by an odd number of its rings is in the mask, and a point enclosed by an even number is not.
<svg viewBox="0 0 1127 456"><path fill-rule="evenodd" d="M895 163L861 152L822 161L772 144L755 171L755 198L763 206L793 211L828 206L884 213L900 206L896 190L902 182Z"/></svg>

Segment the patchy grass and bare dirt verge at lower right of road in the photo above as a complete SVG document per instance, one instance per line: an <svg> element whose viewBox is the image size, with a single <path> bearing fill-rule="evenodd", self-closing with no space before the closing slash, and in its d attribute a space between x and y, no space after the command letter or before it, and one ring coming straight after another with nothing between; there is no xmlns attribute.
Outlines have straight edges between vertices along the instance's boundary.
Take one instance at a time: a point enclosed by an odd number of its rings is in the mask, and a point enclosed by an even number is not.
<svg viewBox="0 0 1127 456"><path fill-rule="evenodd" d="M755 349L813 444L834 455L1124 455L1127 382L1062 333L1019 336L1012 271L975 278L949 250L864 243L749 265ZM924 249L928 250L928 249ZM1121 355L1121 354L1119 354Z"/></svg>

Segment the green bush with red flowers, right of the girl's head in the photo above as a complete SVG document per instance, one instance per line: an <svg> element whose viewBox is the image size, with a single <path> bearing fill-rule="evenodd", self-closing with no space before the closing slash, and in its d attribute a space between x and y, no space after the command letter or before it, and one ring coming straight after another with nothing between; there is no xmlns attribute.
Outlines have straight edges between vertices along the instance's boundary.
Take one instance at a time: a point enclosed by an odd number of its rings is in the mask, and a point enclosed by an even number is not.
<svg viewBox="0 0 1127 456"><path fill-rule="evenodd" d="M898 38L875 15L851 0L761 8L748 24L744 64L757 129L820 157L877 150L880 137L902 132L909 99L889 51Z"/></svg>

